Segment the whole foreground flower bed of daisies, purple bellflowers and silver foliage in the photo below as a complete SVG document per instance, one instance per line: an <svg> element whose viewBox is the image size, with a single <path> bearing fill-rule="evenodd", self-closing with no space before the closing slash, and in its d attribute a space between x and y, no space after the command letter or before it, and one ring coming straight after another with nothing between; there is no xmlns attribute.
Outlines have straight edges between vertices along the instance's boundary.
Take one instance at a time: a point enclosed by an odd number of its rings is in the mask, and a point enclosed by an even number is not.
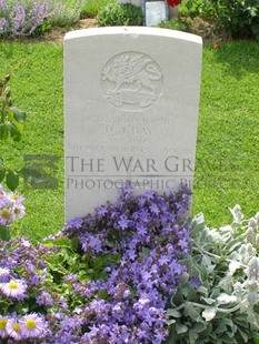
<svg viewBox="0 0 259 344"><path fill-rule="evenodd" d="M232 224L212 230L201 215L190 224L189 204L185 188L126 186L33 246L8 237L24 209L1 188L1 343L251 343L259 213L245 223L236 206Z"/></svg>

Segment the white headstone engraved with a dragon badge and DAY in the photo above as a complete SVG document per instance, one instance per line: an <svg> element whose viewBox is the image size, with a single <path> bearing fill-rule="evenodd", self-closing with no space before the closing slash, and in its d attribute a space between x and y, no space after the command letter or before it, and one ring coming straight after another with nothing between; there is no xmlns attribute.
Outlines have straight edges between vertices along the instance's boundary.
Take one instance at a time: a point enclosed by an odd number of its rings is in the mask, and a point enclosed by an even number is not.
<svg viewBox="0 0 259 344"><path fill-rule="evenodd" d="M156 28L64 38L66 219L136 190L191 188L202 42Z"/></svg>

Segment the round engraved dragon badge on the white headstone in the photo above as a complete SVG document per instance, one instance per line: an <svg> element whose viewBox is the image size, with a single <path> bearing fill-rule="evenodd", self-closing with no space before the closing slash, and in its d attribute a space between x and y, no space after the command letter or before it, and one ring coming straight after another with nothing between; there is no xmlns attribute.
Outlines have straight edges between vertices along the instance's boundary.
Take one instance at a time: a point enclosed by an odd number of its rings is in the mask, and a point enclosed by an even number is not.
<svg viewBox="0 0 259 344"><path fill-rule="evenodd" d="M107 101L124 111L151 107L161 94L162 72L147 54L128 51L114 55L101 72L101 89Z"/></svg>

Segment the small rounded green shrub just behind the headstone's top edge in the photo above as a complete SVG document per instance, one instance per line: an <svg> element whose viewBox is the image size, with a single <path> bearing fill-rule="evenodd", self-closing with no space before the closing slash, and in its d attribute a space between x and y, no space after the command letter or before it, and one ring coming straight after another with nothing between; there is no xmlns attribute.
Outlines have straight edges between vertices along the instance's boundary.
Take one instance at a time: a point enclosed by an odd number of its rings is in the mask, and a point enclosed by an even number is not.
<svg viewBox="0 0 259 344"><path fill-rule="evenodd" d="M142 10L131 3L108 4L97 16L100 27L141 26L142 20Z"/></svg>

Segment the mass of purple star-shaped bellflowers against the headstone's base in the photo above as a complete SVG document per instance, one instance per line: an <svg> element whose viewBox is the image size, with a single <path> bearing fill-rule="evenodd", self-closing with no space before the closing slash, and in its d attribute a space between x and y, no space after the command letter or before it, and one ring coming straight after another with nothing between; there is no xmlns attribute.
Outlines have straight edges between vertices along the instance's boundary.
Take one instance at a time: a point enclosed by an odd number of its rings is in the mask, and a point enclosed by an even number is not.
<svg viewBox="0 0 259 344"><path fill-rule="evenodd" d="M189 204L185 188L135 195L127 185L114 203L69 221L56 235L70 239L76 251L76 261L67 257L72 273L62 279L80 323L69 341L78 343L79 333L79 343L165 341L168 299L186 271L179 259L188 252Z"/></svg>

